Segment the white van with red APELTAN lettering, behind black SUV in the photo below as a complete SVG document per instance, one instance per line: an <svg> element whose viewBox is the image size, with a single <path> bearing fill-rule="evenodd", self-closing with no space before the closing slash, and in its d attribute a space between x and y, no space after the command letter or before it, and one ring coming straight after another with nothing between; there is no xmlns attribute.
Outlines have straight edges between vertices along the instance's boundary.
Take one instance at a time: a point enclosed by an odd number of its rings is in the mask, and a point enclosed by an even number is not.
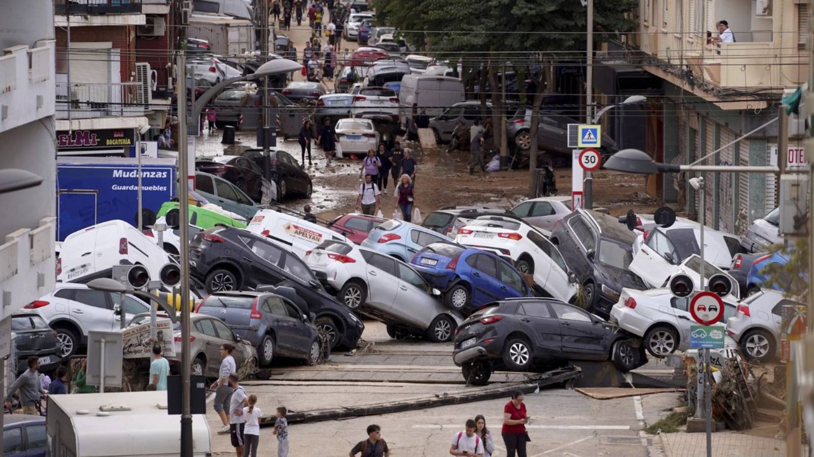
<svg viewBox="0 0 814 457"><path fill-rule="evenodd" d="M274 210L257 211L246 229L288 246L300 258L325 240L351 243L344 235L329 228Z"/></svg>

